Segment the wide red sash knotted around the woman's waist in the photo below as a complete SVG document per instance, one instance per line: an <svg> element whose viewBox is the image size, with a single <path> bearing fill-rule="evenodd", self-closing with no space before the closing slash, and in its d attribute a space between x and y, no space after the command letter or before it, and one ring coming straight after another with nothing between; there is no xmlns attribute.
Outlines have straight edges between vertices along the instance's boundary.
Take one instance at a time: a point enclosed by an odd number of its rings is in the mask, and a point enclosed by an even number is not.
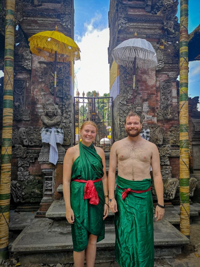
<svg viewBox="0 0 200 267"><path fill-rule="evenodd" d="M85 194L83 199L90 199L89 203L93 204L93 205L98 205L99 204L99 197L97 194L97 190L94 187L94 183L101 181L101 178L97 179L97 180L81 180L81 179L74 179L73 181L75 182L79 182L79 183L86 183L85 185Z"/></svg>

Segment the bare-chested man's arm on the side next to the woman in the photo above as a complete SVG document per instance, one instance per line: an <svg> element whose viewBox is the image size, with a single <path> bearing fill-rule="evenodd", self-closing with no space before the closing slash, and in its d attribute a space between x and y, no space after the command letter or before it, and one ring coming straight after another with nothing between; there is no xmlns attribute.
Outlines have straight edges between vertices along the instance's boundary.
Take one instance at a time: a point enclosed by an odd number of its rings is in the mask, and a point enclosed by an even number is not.
<svg viewBox="0 0 200 267"><path fill-rule="evenodd" d="M112 199L112 201L109 203L111 212L117 212L117 202L114 198L116 168L117 168L117 143L114 143L110 150L109 171L108 171L109 199Z"/></svg>

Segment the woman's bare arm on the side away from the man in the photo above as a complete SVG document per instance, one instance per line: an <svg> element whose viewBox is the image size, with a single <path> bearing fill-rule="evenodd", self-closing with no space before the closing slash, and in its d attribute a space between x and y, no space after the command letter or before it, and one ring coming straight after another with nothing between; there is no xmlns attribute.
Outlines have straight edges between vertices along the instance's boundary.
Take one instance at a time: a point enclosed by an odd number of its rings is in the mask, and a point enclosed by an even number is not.
<svg viewBox="0 0 200 267"><path fill-rule="evenodd" d="M65 199L66 219L69 223L74 223L74 212L70 203L70 181L71 168L73 165L74 148L68 148L63 161L63 197Z"/></svg>

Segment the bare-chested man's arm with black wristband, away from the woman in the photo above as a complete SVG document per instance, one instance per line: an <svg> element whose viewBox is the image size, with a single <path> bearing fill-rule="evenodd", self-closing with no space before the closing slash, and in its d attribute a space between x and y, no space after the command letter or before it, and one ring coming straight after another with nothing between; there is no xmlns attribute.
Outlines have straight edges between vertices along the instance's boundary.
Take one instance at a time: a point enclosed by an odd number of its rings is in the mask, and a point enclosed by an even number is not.
<svg viewBox="0 0 200 267"><path fill-rule="evenodd" d="M158 152L158 148L155 144L152 144L152 156L151 156L151 167L153 171L153 179L154 179L154 186L155 192L158 199L158 204L164 206L164 199L163 199L163 182L161 176L161 168L160 168L160 156ZM156 206L155 209L155 218L157 221L161 220L164 216L165 209Z"/></svg>

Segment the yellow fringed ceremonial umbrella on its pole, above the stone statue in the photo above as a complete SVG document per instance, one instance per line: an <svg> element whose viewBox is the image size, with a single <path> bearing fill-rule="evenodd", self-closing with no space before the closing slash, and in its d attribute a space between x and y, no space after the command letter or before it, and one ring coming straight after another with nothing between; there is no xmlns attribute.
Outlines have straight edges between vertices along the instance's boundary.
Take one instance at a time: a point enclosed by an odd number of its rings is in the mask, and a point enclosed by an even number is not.
<svg viewBox="0 0 200 267"><path fill-rule="evenodd" d="M57 29L55 26L54 31L39 32L29 38L32 53L55 62L54 103L56 103L57 61L67 62L81 59L78 45Z"/></svg>

